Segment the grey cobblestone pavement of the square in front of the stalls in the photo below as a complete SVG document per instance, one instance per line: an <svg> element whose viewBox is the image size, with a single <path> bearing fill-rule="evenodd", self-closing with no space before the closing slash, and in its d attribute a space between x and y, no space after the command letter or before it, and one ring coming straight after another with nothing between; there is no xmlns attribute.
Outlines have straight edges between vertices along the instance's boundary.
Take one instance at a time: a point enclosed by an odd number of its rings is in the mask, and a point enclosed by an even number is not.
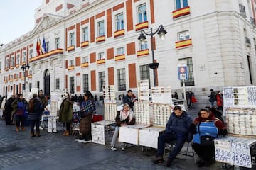
<svg viewBox="0 0 256 170"><path fill-rule="evenodd" d="M61 126L57 133L41 130L42 136L33 138L26 128L26 132L16 132L14 125L0 121L0 169L166 169L164 164L151 163L155 149L142 151L140 146L129 146L114 152L110 145L82 144L74 136L64 137ZM193 162L193 157L175 159L170 169L198 169ZM220 169L220 164L202 169Z"/></svg>

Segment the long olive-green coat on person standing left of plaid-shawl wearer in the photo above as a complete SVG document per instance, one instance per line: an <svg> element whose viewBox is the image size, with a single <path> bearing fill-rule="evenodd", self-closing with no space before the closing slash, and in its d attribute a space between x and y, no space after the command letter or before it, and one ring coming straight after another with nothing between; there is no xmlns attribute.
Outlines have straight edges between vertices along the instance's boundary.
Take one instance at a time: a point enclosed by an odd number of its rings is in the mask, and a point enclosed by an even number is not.
<svg viewBox="0 0 256 170"><path fill-rule="evenodd" d="M71 123L73 118L73 102L69 98L65 98L60 104L60 122Z"/></svg>

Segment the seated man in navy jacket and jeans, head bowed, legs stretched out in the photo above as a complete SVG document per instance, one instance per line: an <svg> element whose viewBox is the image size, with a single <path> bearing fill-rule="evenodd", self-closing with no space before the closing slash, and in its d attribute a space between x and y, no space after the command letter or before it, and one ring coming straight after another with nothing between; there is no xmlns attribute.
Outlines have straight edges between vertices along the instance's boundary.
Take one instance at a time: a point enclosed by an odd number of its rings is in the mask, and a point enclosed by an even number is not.
<svg viewBox="0 0 256 170"><path fill-rule="evenodd" d="M188 139L188 131L190 130L192 123L192 118L186 111L182 111L181 106L174 107L174 112L172 112L169 117L164 134L161 134L158 137L157 154L156 158L153 160L154 164L164 162L163 155L166 142L176 140L176 146L171 150L166 161L166 166L171 166L171 162L176 158Z"/></svg>

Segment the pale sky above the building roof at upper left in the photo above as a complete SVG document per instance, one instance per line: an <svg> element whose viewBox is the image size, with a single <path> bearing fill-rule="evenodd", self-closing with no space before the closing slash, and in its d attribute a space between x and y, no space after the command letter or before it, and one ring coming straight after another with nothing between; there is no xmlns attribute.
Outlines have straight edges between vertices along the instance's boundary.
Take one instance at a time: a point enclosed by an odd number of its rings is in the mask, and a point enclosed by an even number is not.
<svg viewBox="0 0 256 170"><path fill-rule="evenodd" d="M0 44L8 43L33 30L34 11L42 0L0 1Z"/></svg>

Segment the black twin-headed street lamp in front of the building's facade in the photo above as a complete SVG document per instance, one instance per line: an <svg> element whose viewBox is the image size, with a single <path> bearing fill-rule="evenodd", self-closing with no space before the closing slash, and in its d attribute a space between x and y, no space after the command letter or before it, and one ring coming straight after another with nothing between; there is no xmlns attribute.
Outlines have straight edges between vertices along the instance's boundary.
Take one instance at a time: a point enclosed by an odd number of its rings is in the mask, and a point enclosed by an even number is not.
<svg viewBox="0 0 256 170"><path fill-rule="evenodd" d="M146 40L146 36L144 34L149 35L151 38L152 63L149 63L149 68L153 69L154 86L156 86L156 69L159 67L159 63L154 61L153 35L156 33L159 35L161 40L164 40L167 32L164 30L163 25L160 25L155 32L153 32L153 28L150 28L150 33L146 33L144 30L142 30L138 38L140 42L144 42Z"/></svg>

